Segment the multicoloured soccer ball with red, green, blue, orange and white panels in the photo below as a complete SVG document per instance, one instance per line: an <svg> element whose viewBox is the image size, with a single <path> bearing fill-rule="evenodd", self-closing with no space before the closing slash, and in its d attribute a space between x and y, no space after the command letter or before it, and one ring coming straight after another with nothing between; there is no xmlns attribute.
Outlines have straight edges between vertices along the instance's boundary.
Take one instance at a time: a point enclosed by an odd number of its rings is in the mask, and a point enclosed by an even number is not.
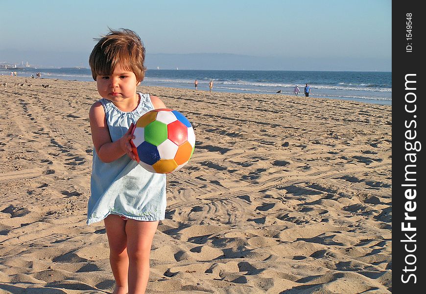
<svg viewBox="0 0 426 294"><path fill-rule="evenodd" d="M136 160L148 172L169 173L181 169L195 148L191 123L179 111L154 109L136 122L130 143Z"/></svg>

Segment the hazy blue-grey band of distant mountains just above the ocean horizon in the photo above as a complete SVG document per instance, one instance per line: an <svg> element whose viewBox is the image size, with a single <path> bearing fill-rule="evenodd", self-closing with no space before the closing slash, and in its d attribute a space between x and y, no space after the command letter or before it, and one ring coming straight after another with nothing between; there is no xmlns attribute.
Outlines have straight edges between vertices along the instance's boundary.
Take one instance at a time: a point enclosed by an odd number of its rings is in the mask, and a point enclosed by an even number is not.
<svg viewBox="0 0 426 294"><path fill-rule="evenodd" d="M90 52L19 51L0 49L1 61L37 68L89 68ZM265 70L265 71L392 71L390 58L262 57L229 53L147 53L148 69L162 70Z"/></svg>

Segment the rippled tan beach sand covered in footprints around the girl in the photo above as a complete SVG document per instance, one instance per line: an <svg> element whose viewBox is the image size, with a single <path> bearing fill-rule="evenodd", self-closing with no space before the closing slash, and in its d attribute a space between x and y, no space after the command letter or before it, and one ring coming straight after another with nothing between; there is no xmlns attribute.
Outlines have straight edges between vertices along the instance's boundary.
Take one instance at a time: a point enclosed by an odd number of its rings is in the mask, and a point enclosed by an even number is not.
<svg viewBox="0 0 426 294"><path fill-rule="evenodd" d="M7 83L4 86L3 83ZM0 293L111 293L95 82L0 77ZM146 293L390 293L391 106L139 87L193 124Z"/></svg>

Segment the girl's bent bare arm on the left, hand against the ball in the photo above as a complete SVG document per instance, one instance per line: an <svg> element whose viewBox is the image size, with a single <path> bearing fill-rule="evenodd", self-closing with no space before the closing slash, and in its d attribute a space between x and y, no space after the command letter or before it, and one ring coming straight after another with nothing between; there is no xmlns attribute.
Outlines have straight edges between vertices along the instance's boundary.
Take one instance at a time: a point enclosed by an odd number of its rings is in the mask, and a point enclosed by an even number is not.
<svg viewBox="0 0 426 294"><path fill-rule="evenodd" d="M130 140L134 138L132 135L133 123L119 140L112 142L102 103L95 102L92 105L89 111L89 121L93 145L102 162L113 162L124 154L127 154L132 160L136 160L130 145Z"/></svg>

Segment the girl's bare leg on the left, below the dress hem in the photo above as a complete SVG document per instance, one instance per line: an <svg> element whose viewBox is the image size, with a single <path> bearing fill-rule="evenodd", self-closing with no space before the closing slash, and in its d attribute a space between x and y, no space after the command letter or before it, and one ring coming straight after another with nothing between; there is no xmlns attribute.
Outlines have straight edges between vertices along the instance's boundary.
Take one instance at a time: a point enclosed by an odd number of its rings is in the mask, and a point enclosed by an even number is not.
<svg viewBox="0 0 426 294"><path fill-rule="evenodd" d="M129 257L127 256L126 221L118 215L109 215L104 220L110 245L111 270L116 280L114 294L126 294L128 291L127 275Z"/></svg>

